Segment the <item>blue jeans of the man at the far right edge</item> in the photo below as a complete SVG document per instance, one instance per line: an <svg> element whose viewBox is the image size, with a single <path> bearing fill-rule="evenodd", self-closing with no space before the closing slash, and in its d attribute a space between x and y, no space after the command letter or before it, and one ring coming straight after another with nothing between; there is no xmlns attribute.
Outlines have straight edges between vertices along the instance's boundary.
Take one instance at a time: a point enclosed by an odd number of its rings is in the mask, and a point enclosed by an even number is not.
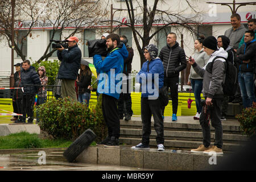
<svg viewBox="0 0 256 182"><path fill-rule="evenodd" d="M238 73L238 83L241 89L241 95L243 99L243 107L251 107L255 100L254 94L254 82L253 82L253 73L245 72Z"/></svg>

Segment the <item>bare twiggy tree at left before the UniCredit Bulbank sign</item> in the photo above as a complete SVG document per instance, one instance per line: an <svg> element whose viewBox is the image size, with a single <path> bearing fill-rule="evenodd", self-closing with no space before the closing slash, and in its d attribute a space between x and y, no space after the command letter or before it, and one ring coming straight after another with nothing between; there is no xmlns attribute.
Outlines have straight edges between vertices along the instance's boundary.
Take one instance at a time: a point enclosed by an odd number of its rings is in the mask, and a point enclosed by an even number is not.
<svg viewBox="0 0 256 182"><path fill-rule="evenodd" d="M0 1L0 32L8 40L11 47L11 1ZM32 30L36 23L51 24L51 38L55 37L56 32L59 32L59 40L63 38L63 30L69 28L69 36L84 31L84 28L91 26L97 22L99 18L104 16L106 11L102 9L100 1L90 0L16 0L15 3L15 22L18 24L21 20L30 22L27 28L27 33L22 36L17 42L18 28L16 28L14 50L22 58L26 56L22 52L23 40L27 36L33 36ZM38 63L44 59L48 59L56 49L50 50L51 42L45 51L42 52Z"/></svg>

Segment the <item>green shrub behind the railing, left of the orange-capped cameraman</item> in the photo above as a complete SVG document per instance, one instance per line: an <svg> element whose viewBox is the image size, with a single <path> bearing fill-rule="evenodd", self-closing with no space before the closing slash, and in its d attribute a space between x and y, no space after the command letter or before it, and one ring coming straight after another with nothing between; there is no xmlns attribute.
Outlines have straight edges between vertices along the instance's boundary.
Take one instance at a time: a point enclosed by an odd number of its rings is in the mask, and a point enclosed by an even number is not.
<svg viewBox="0 0 256 182"><path fill-rule="evenodd" d="M36 71L40 66L44 66L46 68L46 75L48 76L48 84L54 85L55 78L60 68L59 60L53 61L42 61L41 63L33 63L32 66L35 67Z"/></svg>

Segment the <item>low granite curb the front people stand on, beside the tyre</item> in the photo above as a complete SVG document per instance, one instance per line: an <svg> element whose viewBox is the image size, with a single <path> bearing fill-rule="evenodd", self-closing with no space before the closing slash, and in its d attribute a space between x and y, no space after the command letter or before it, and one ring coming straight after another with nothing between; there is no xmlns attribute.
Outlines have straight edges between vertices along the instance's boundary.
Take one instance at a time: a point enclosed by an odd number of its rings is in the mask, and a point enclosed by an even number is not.
<svg viewBox="0 0 256 182"><path fill-rule="evenodd" d="M224 154L229 155L229 154ZM108 164L135 168L161 170L207 170L216 163L221 164L223 155L193 154L190 151L165 150L131 150L130 147L106 148L90 146L77 158L80 163ZM209 164L209 163L212 163Z"/></svg>

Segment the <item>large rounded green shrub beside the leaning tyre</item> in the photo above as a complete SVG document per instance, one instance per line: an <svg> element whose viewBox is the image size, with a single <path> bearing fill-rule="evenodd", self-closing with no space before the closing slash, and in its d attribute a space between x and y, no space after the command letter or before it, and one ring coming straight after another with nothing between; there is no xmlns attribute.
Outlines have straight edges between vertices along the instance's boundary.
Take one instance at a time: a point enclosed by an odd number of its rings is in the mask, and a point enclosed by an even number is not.
<svg viewBox="0 0 256 182"><path fill-rule="evenodd" d="M36 106L39 127L53 138L78 138L86 129L93 130L101 137L102 112L99 106L89 109L80 102L71 102L69 98L56 100L50 98L46 103Z"/></svg>

